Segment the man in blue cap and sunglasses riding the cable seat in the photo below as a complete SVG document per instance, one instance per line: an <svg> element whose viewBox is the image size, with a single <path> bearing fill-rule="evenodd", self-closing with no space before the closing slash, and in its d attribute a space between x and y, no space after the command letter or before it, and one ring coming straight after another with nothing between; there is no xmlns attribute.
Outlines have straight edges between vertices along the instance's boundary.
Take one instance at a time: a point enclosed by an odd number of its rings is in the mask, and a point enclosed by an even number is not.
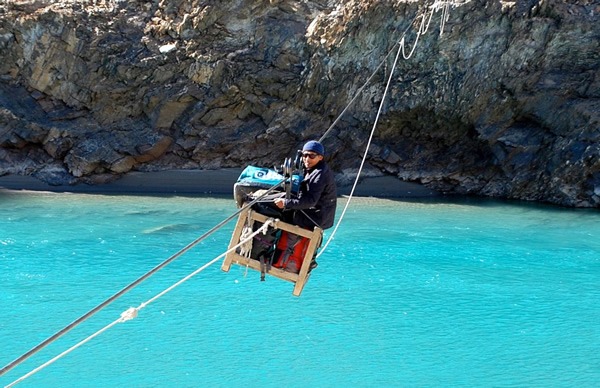
<svg viewBox="0 0 600 388"><path fill-rule="evenodd" d="M277 198L275 206L281 210L295 210L292 223L312 229L333 226L337 205L337 189L333 172L324 160L325 148L311 140L302 147L304 179L297 198Z"/></svg>

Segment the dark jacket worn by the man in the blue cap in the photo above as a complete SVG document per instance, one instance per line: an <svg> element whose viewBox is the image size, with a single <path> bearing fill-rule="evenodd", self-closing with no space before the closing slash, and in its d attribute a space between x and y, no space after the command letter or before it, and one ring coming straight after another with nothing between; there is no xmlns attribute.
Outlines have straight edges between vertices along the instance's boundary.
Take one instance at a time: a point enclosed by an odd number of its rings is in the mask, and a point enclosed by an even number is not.
<svg viewBox="0 0 600 388"><path fill-rule="evenodd" d="M296 210L296 225L313 228L316 224L327 229L333 226L336 204L335 177L327 163L321 160L311 170L304 171L298 197L286 199L285 209Z"/></svg>

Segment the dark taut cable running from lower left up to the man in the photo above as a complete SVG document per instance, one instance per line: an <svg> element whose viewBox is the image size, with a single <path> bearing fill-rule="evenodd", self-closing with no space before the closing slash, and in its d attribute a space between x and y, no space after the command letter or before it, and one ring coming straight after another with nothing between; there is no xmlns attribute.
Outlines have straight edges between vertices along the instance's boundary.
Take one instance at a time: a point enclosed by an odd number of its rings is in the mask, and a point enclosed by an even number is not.
<svg viewBox="0 0 600 388"><path fill-rule="evenodd" d="M206 239L208 236L210 236L211 234L213 234L214 232L216 232L217 230L219 230L220 228L222 228L226 223L228 223L229 221L231 221L235 216L237 216L238 214L240 214L244 210L248 209L250 206L254 205L261 198L263 198L265 195L271 193L277 187L281 186L284 182L285 182L285 179L283 179L279 183L273 185L268 190L265 190L265 192L262 193L260 196L258 196L256 199L254 199L253 201L249 202L248 204L246 204L245 206L243 206L242 208L240 208L238 211L236 211L235 213L233 213L232 215L230 215L229 217L227 217L226 219L224 219L223 221L221 221L220 223L218 223L217 225L215 225L212 229L210 229L208 232L204 233L202 236L198 237L196 240L194 240L191 243L189 243L187 246L185 246L179 252L175 253L174 255L172 255L171 257L169 257L168 259L166 259L165 261L163 261L162 263L160 263L159 265L157 265L156 267L154 267L150 271L146 272L144 275L140 276L138 279L134 280L132 283L130 283L129 285L127 285L121 291L117 292L116 294L114 294L110 298L106 299L104 302L100 303L98 306L94 307L93 309L91 309L90 311L88 311L87 313L85 313L84 315L82 315L81 317L77 318L76 320L74 320L73 322L71 322L70 324L68 324L67 326L65 326L60 331L56 332L52 336L46 338L44 341L40 342L38 345L34 346L32 349L30 349L28 352L24 353L19 358L17 358L14 361L12 361L10 364L8 364L5 367L3 367L0 370L0 376L2 376L4 373L8 372L9 370L11 370L12 368L14 368L15 366L19 365L20 363L22 363L23 361L25 361L26 359L28 359L29 357L31 357L33 354L37 353L38 351L40 351L42 348L44 348L48 344L54 342L55 340L57 340L58 338L60 338L63 334L67 333L68 331L70 331L71 329L73 329L74 327L76 327L77 325L79 325L81 322L85 321L86 319L88 319L89 317L91 317L92 315L94 315L95 313L97 313L98 311L100 311L101 309L103 309L104 307L106 307L107 305L109 305L110 303L114 302L117 298L119 298L120 296L122 296L126 292L130 291L132 288L136 287L138 284L140 284L144 280L148 279L150 276L152 276L153 274L155 274L156 272L158 272L160 269L162 269L163 267L165 267L168 264L170 264L173 260L177 259L179 256L183 255L185 252L187 252L190 249L192 249L198 243L200 243L201 241L203 241L204 239Z"/></svg>

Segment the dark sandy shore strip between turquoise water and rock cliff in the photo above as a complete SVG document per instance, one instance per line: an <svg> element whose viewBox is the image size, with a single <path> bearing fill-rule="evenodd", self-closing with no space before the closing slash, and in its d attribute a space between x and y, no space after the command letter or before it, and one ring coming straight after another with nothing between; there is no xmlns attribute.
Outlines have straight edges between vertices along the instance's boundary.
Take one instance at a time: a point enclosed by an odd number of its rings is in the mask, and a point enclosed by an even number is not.
<svg viewBox="0 0 600 388"><path fill-rule="evenodd" d="M33 177L5 175L0 177L0 190L51 191L90 194L135 195L232 195L240 169L173 170L161 172L132 172L125 177L103 185L50 186ZM348 195L351 186L339 187L340 195ZM405 198L436 196L415 183L401 182L393 177L363 179L356 188L356 196Z"/></svg>

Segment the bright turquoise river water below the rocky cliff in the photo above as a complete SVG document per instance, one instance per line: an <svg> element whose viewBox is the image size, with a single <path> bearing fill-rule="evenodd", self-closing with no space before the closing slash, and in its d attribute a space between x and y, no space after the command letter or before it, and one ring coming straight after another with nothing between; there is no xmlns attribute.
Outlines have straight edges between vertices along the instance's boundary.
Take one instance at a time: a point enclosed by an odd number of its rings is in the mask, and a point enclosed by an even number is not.
<svg viewBox="0 0 600 388"><path fill-rule="evenodd" d="M0 193L0 366L235 210L230 198ZM232 229L0 384L220 254ZM219 262L19 386L598 386L597 210L360 198L319 263L297 298Z"/></svg>

